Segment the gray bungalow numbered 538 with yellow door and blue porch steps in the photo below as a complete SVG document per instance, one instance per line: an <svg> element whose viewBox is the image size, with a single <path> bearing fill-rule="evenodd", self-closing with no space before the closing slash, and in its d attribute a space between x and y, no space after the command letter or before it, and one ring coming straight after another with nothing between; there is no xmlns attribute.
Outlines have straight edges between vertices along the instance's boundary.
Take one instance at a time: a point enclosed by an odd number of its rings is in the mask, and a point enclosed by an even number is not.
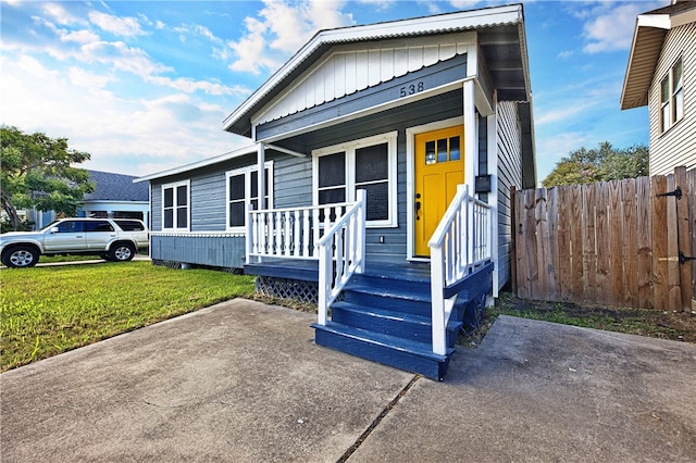
<svg viewBox="0 0 696 463"><path fill-rule="evenodd" d="M139 179L153 261L244 268L318 303L316 343L442 379L536 183L522 5L322 30L224 128L249 148Z"/></svg>

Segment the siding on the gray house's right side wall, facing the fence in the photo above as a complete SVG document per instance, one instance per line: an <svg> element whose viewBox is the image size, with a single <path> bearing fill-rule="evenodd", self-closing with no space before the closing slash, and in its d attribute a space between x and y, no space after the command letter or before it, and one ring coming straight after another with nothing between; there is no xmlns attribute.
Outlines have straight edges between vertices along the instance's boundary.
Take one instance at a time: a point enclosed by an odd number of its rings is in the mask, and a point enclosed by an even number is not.
<svg viewBox="0 0 696 463"><path fill-rule="evenodd" d="M498 102L496 146L498 151L498 284L510 279L512 209L510 187L522 187L522 142L518 103Z"/></svg>

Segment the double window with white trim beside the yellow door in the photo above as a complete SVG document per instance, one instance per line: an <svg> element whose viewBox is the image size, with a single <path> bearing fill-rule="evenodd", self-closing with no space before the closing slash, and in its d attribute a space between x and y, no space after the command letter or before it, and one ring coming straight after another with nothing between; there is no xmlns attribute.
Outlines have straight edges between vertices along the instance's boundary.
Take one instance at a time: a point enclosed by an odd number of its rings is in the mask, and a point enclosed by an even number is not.
<svg viewBox="0 0 696 463"><path fill-rule="evenodd" d="M314 204L351 202L368 193L372 227L396 227L397 132L312 151Z"/></svg>

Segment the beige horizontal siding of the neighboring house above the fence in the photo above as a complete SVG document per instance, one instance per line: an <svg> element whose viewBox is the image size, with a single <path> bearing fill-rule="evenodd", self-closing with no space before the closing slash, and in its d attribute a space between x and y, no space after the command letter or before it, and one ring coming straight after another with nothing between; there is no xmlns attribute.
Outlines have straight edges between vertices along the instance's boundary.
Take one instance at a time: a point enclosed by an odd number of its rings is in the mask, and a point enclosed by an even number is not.
<svg viewBox="0 0 696 463"><path fill-rule="evenodd" d="M660 134L660 82L683 60L684 117ZM667 175L676 166L696 166L696 23L667 33L649 90L650 175Z"/></svg>

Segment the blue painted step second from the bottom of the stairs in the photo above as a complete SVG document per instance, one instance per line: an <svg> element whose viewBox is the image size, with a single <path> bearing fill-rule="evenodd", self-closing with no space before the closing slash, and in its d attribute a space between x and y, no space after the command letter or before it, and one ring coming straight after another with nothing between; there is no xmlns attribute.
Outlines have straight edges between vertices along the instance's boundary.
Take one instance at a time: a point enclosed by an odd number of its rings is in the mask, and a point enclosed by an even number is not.
<svg viewBox="0 0 696 463"><path fill-rule="evenodd" d="M384 335L411 339L431 345L433 342L433 328L431 323L430 302L428 316L402 312L398 306L390 304L360 305L351 302L336 302L331 308L331 318L356 328L368 329ZM456 317L450 317L447 325L447 346L453 347L462 323Z"/></svg>

